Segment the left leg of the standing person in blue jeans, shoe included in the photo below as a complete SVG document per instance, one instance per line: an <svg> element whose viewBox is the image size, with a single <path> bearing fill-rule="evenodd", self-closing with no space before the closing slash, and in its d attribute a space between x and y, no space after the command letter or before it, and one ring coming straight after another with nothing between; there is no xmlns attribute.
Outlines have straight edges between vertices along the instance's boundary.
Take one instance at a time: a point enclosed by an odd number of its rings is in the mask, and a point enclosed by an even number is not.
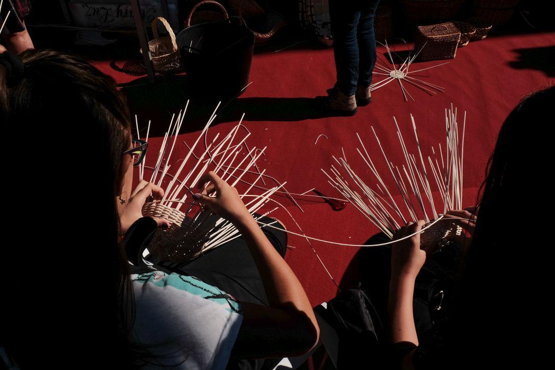
<svg viewBox="0 0 555 370"><path fill-rule="evenodd" d="M325 107L329 111L352 115L356 113L354 99L359 78L359 46L356 29L360 11L339 0L330 0L331 36L334 38L336 83L328 90Z"/></svg>

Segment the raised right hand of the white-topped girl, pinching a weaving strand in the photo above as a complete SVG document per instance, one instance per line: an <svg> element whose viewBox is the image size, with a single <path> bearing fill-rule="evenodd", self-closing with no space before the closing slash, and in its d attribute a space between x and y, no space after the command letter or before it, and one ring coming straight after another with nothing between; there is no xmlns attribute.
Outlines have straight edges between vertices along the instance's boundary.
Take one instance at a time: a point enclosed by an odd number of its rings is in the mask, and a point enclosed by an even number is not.
<svg viewBox="0 0 555 370"><path fill-rule="evenodd" d="M204 188L204 184L208 186ZM218 175L210 171L201 177L196 186L202 193L194 194L199 203L209 207L218 216L228 219L235 223L243 224L253 220L253 216L246 209L245 204L239 197L239 193L234 187L229 186ZM214 197L207 194L216 193Z"/></svg>

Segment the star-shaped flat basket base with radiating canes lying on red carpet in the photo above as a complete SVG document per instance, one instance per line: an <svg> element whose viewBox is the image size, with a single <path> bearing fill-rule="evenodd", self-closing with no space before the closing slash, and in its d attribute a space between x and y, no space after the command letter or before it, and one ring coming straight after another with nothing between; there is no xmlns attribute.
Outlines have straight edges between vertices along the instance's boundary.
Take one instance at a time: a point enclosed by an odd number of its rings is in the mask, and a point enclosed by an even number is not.
<svg viewBox="0 0 555 370"><path fill-rule="evenodd" d="M436 66L431 66L427 68L416 69L415 71L410 71L409 68L412 62L414 62L415 59L418 57L418 54L422 52L422 49L426 47L426 44L424 44L422 47L417 49L415 54L409 54L408 57L406 57L405 60L402 61L402 63L400 62L396 66L395 62L393 61L393 56L391 55L390 47L388 46L387 41L384 41L384 42L385 43L382 44L381 42L377 41L377 43L379 43L380 45L386 48L386 52L389 56L388 59L390 64L382 61L382 59L379 57L379 54L378 54L376 65L374 67L375 69L377 69L377 71L374 70L372 74L378 77L384 77L384 79L382 79L381 81L372 83L370 85L370 91L374 91L376 89L379 89L380 87L384 87L390 82L397 81L397 83L401 87L401 92L403 93L403 99L405 99L405 102L408 101L408 98L411 98L412 101L414 101L415 99L407 91L407 88L405 87L403 82L410 83L411 85L418 87L419 89L423 90L429 95L434 95L437 92L445 91L445 88L441 86L437 86L436 84L423 81L422 79L416 78L415 76L411 76L411 73L426 71L428 69L443 66L443 64L447 64L449 62L440 63L440 64L437 64ZM393 50L393 53L395 53L395 50Z"/></svg>

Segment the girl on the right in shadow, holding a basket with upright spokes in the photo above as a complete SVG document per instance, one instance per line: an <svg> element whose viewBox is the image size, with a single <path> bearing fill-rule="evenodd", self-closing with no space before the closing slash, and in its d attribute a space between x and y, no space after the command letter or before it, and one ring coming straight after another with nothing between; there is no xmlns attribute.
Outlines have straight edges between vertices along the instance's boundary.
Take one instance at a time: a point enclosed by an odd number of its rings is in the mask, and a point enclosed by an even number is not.
<svg viewBox="0 0 555 370"><path fill-rule="evenodd" d="M398 368L540 368L547 363L553 251L538 227L551 209L543 202L543 194L549 198L543 189L549 188L538 177L549 167L538 169L538 164L548 158L539 149L548 146L543 128L553 121L554 103L555 87L549 87L513 109L499 131L478 207L446 215L469 236L459 240L465 242L463 265L451 302L443 302L447 320L441 329L424 336L415 329L415 279L427 257L420 234L392 244L389 334ZM537 212L536 202L544 212ZM407 224L397 238L419 231L423 223Z"/></svg>

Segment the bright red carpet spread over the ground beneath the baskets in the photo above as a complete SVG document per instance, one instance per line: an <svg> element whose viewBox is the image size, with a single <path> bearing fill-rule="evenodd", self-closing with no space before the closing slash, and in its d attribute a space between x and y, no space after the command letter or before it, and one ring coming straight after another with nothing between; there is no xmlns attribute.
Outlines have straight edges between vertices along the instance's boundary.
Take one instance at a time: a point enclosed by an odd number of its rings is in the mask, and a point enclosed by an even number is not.
<svg viewBox="0 0 555 370"><path fill-rule="evenodd" d="M329 169L332 155L339 156L341 148L349 161L358 169L361 176L375 181L367 174L367 167L362 166L356 153L356 132L359 132L374 158L374 162L385 174L386 168L381 153L370 131L374 126L381 143L393 163L401 163L401 151L396 137L392 117L397 118L407 143L412 145L409 114L415 116L420 141L425 153L430 146L445 142L445 108L451 103L458 107L459 121L462 123L463 112L467 112L465 137L465 171L463 201L465 206L475 204L478 187L484 178L485 165L496 141L497 132L503 119L518 101L528 92L546 86L553 81L541 70L535 70L533 63L521 63L522 53L555 45L555 33L533 34L486 38L472 42L457 51L456 59L450 64L424 71L430 77L425 81L445 87L445 93L428 96L414 86L407 86L416 102L403 102L400 87L396 83L378 89L372 94L370 106L359 108L354 117L319 118L296 120L297 108L302 110L305 102L299 97L312 98L323 94L326 88L335 82L334 58L331 49L322 51L285 50L277 53L256 55L250 73L253 83L241 96L240 107L245 107L245 124L253 133L249 145L268 146L261 168L280 181L287 181L290 192L302 193L316 188L329 196L339 196L327 183L321 168ZM397 45L401 50L403 46ZM521 50L518 52L517 49ZM522 51L524 49L524 51ZM384 48L379 47L379 53ZM414 64L413 69L433 66L441 62ZM105 64L100 66L104 72L113 74L119 82L130 79L120 73L114 73ZM380 78L375 77L375 82ZM265 97L267 99L258 99ZM282 98L282 99L273 99ZM262 107L260 107L262 106ZM289 107L289 108L288 108ZM249 116L249 111L259 112ZM262 113L260 113L262 108ZM189 107L194 109L194 107ZM281 119L294 119L289 122L276 122L271 114L264 117L264 110L278 114ZM208 113L209 115L209 113ZM208 115L206 118L208 118ZM300 114L302 116L302 114ZM140 117L143 120L149 117ZM233 119L239 119L237 113ZM229 120L228 120L229 121ZM236 122L236 121L235 121ZM235 122L224 122L210 131L228 132ZM165 127L167 122L159 123ZM315 139L321 137L315 145ZM188 143L193 142L196 132L183 135ZM152 141L152 152L156 148ZM413 147L413 151L416 148ZM518 150L518 148L515 148ZM430 152L431 154L431 152ZM175 156L174 158L179 158ZM153 158L150 158L151 160ZM389 178L387 177L387 181ZM372 182L373 183L373 182ZM390 182L391 183L391 182ZM393 185L393 184L391 184ZM314 193L311 193L314 195ZM306 235L336 242L362 244L377 229L372 226L354 207L347 204L344 210L332 211L328 204L299 201L304 213L287 198L278 198L293 214ZM289 216L282 211L273 213L288 229L298 232ZM315 254L306 241L291 236L289 245L295 247L287 252L287 262L306 289L311 303L316 305L327 301L336 294L336 287L320 265ZM341 247L320 242L313 243L322 262L339 283L350 286L356 281L356 261L358 248ZM351 264L351 268L349 265Z"/></svg>

